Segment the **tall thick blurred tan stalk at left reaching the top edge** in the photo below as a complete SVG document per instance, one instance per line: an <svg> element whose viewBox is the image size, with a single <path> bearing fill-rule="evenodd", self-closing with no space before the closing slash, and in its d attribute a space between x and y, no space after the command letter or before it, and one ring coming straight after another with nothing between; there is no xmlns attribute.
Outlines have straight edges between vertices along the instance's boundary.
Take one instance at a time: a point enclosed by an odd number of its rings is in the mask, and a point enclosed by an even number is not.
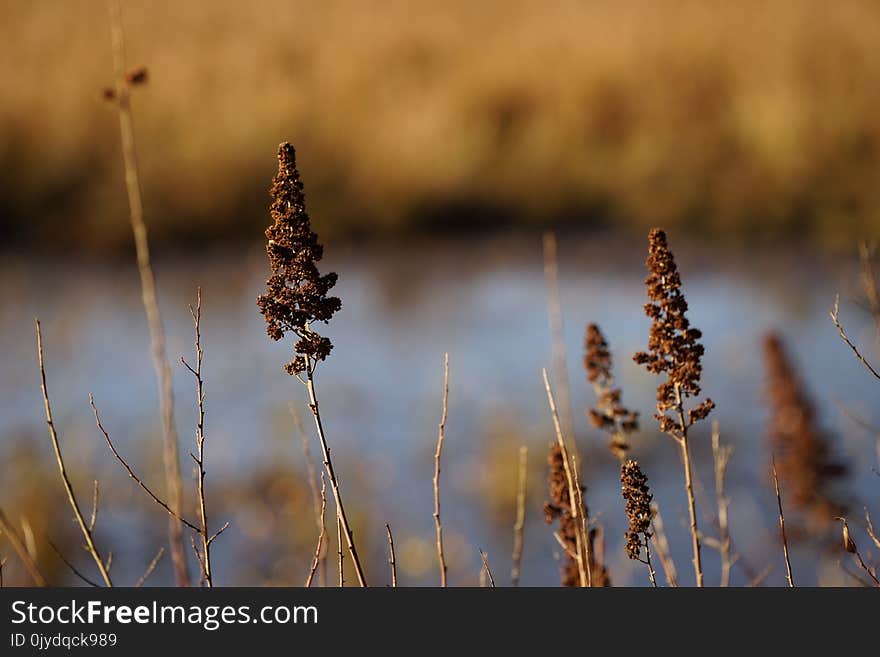
<svg viewBox="0 0 880 657"><path fill-rule="evenodd" d="M174 425L174 389L171 381L171 365L165 349L165 331L159 302L156 296L156 277L150 261L150 244L147 225L144 222L144 203L138 172L137 148L134 137L134 120L131 112L130 85L132 79L125 70L125 31L122 25L122 9L119 0L109 0L110 32L113 42L113 69L115 77L115 102L119 110L119 134L122 142L122 160L125 168L125 188L128 194L129 219L134 234L138 273L144 311L150 330L153 366L159 386L159 407L162 416L165 462L165 485L171 508L168 537L171 559L179 586L189 586L183 528L178 518L183 508L183 480L180 476L180 454L177 429Z"/></svg>

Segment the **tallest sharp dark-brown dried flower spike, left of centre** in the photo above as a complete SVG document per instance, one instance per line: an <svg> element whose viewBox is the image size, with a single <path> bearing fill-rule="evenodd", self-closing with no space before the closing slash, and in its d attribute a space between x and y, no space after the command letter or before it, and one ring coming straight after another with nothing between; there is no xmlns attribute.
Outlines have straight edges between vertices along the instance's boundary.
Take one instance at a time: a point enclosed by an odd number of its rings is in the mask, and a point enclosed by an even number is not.
<svg viewBox="0 0 880 657"><path fill-rule="evenodd" d="M278 174L270 194L274 223L266 229L266 251L272 276L266 281L266 293L257 298L257 305L266 318L269 337L281 340L292 332L299 338L294 346L296 355L285 366L288 373L310 373L333 348L330 339L313 331L311 324L329 321L342 302L327 295L336 285L336 274L322 276L318 272L317 263L324 255L324 247L312 232L303 184L296 169L296 152L289 143L278 147Z"/></svg>

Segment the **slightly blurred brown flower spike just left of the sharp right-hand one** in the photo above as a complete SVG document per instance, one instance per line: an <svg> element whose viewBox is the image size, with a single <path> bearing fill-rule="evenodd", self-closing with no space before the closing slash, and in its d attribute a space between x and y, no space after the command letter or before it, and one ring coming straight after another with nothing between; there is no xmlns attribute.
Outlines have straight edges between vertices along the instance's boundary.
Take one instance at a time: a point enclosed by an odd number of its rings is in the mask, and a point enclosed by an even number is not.
<svg viewBox="0 0 880 657"><path fill-rule="evenodd" d="M629 435L639 428L639 414L630 411L621 401L620 388L614 387L611 352L602 331L596 324L587 326L584 338L584 369L587 381L596 393L596 408L587 410L590 422L608 432L608 448L621 461L629 451Z"/></svg>

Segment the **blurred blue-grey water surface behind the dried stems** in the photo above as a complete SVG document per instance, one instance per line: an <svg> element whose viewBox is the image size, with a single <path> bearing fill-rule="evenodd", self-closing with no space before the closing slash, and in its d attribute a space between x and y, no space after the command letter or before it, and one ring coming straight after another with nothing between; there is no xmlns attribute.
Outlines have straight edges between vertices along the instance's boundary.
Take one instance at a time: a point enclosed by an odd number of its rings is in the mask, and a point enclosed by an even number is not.
<svg viewBox="0 0 880 657"><path fill-rule="evenodd" d="M781 331L788 341L820 408L820 420L836 438L835 452L851 467L846 488L854 501L852 515L861 516L863 504L873 504L880 515L880 480L871 472L877 467L875 437L842 410L845 406L880 424L880 389L839 341L828 318L840 290L851 337L867 353L875 353L873 323L858 305L856 263L794 251L731 254L677 242L671 235L690 317L705 336L705 393L718 404L713 417L721 423L723 440L735 447L729 472L731 531L744 567L735 567L734 583L747 583L771 565L766 582L779 585L784 569L764 441L761 337L767 330ZM676 450L657 435L650 418L657 381L631 359L647 339L648 321L641 309L644 250L641 242L560 240L565 346L587 502L605 528L615 583L640 585L647 581L645 573L627 562L622 549L626 523L616 462L606 452L603 436L584 418L593 395L580 359L584 325L596 321L611 345L624 401L642 412L634 453L654 486L680 577L688 582L689 539ZM436 580L431 477L443 354L448 351L450 407L442 497L451 582L476 584L478 547L487 550L496 580L507 580L516 453L520 444L527 444L522 581L557 583L553 553L558 548L541 513L552 425L541 383L541 368L549 367L551 359L540 239L425 240L393 248L331 247L327 253L324 268L339 272L336 292L343 309L326 328L335 348L319 368L318 391L371 580L388 579L386 522L395 530L402 583ZM232 523L216 543L217 579L221 584L299 584L315 530L288 403L293 400L304 419L309 417L302 386L281 369L290 345L266 337L255 305L266 275L264 253L254 245L240 252L180 254L160 259L156 271L173 361L191 355L187 305L194 301L197 286L203 290L209 494L215 495L217 522ZM75 483L84 500L90 497L93 478L110 491L99 520L100 536L118 554L117 577L133 581L162 541L164 518L143 502L112 461L87 403L91 392L120 448L161 488L156 385L133 264L3 256L0 458L6 466L0 494L7 504L28 478L37 477L32 463L51 467L38 388L35 316L43 324L49 390ZM181 452L188 458L195 392L184 368L174 369ZM698 503L711 515L708 427L697 432L694 442ZM34 460L21 460L22 449L31 450ZM312 449L318 452L317 443ZM37 496L42 506L18 508L17 513L52 509L63 524L69 515L63 493L56 480L47 481ZM255 498L262 500L259 505L252 504ZM714 532L711 518L704 520L704 528ZM274 547L262 550L255 544ZM794 550L796 574L803 583L852 582L836 566L839 556L820 558L820 552L815 545ZM706 554L709 581L715 582L717 556L708 549ZM154 578L153 583L169 583L169 565L161 565Z"/></svg>

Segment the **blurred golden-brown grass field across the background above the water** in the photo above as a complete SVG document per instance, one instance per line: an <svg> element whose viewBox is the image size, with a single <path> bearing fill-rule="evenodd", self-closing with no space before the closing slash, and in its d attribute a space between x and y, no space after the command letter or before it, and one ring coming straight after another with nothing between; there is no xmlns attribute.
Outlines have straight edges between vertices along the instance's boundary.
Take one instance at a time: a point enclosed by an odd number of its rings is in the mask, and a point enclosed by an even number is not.
<svg viewBox="0 0 880 657"><path fill-rule="evenodd" d="M130 0L151 237L259 239L296 142L329 234L880 228L880 5ZM0 238L127 244L103 2L3 0Z"/></svg>

